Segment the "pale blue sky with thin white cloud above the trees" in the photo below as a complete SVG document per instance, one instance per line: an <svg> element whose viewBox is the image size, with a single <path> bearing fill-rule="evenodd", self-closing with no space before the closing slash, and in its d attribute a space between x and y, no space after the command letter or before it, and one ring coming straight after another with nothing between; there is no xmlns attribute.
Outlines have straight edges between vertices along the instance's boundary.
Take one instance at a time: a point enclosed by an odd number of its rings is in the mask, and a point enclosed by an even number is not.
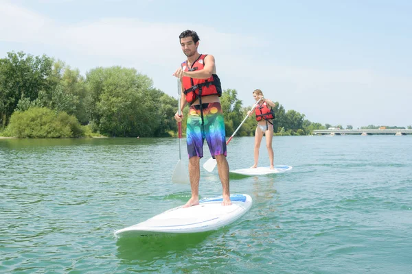
<svg viewBox="0 0 412 274"><path fill-rule="evenodd" d="M134 68L177 98L179 34L192 29L244 106L260 88L314 123L407 127L411 14L409 0L0 0L0 58Z"/></svg>

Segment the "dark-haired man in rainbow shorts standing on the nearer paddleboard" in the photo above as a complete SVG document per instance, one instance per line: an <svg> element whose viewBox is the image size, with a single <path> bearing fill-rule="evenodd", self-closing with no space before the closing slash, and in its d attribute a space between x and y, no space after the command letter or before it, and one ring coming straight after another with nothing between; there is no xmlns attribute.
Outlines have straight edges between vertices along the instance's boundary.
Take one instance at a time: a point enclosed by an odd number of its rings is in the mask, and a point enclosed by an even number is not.
<svg viewBox="0 0 412 274"><path fill-rule="evenodd" d="M222 88L216 75L213 55L198 53L199 37L196 32L185 30L179 36L183 53L187 60L173 75L181 79L181 113L174 119L183 119L183 108L190 103L187 116L187 154L189 155L189 177L192 197L185 208L199 203L199 180L201 177L200 160L203 157L203 141L206 138L211 156L216 159L220 182L222 182L222 205L231 205L229 192L229 164L226 160L226 134L223 113L220 108Z"/></svg>

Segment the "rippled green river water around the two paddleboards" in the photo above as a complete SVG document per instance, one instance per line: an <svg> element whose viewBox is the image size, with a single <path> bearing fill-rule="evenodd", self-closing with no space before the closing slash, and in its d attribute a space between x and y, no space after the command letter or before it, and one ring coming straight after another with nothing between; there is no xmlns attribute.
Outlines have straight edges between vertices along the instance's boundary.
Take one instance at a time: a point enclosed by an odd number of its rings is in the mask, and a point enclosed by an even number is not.
<svg viewBox="0 0 412 274"><path fill-rule="evenodd" d="M236 223L116 239L189 199L171 183L177 139L0 139L0 272L412 272L412 136L285 136L273 148L293 170L231 177L254 201ZM228 146L231 169L252 155L253 138ZM216 171L201 176L201 197L221 194Z"/></svg>

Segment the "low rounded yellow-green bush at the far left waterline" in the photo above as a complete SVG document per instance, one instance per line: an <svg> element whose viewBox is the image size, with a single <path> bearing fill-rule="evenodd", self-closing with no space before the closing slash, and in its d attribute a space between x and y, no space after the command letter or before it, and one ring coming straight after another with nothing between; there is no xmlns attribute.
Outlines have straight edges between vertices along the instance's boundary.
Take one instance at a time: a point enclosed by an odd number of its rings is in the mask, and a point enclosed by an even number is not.
<svg viewBox="0 0 412 274"><path fill-rule="evenodd" d="M84 136L86 129L66 112L34 107L14 112L6 132L17 138L76 138Z"/></svg>

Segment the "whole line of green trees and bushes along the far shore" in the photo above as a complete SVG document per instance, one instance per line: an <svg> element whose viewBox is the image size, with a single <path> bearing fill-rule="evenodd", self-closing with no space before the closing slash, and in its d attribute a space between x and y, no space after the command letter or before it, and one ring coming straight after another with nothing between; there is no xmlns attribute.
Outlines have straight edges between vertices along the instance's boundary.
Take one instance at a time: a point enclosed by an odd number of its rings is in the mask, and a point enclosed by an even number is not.
<svg viewBox="0 0 412 274"><path fill-rule="evenodd" d="M223 90L220 98L227 136L233 134L251 109L242 106L237 95L236 89L229 88ZM97 67L82 76L78 69L47 55L20 51L9 52L0 59L3 137L175 137L176 105L177 99L154 88L152 79L135 69ZM332 127L312 123L295 110L286 112L279 102L274 111L275 136L311 135L314 129ZM186 107L184 117L187 112ZM253 136L255 126L255 120L248 119L238 136ZM341 125L336 127L343 129ZM347 125L347 129L352 129L352 125Z"/></svg>

